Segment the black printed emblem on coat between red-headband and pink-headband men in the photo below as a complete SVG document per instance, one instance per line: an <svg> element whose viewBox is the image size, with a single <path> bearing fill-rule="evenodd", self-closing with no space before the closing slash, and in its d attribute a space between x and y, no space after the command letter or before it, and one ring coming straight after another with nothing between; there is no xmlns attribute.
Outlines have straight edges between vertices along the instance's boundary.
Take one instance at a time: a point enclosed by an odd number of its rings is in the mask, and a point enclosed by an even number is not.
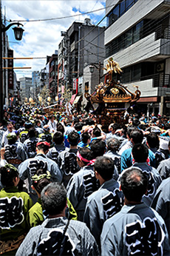
<svg viewBox="0 0 170 256"><path fill-rule="evenodd" d="M77 162L77 155L74 152L65 152L64 163L61 169L65 175L73 175L80 170Z"/></svg>

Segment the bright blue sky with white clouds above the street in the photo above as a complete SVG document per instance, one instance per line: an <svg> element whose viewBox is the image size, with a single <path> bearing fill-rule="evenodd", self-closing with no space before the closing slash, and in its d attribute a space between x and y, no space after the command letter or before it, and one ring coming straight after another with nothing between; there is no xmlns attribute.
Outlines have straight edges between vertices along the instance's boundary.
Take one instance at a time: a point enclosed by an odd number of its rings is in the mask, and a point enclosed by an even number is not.
<svg viewBox="0 0 170 256"><path fill-rule="evenodd" d="M33 71L41 71L46 65L45 58L58 50L61 42L61 31L67 31L74 21L84 21L91 18L92 24L98 24L105 16L105 10L81 16L86 13L105 7L104 0L2 0L2 13L7 21L19 21L24 25L24 34L21 41L16 41L13 30L7 31L10 49L14 50L14 57L34 57L33 60L14 60L14 67L31 67L30 70L15 70L17 79L31 77ZM73 16L70 18L61 18ZM61 18L48 21L41 19ZM33 21L36 20L36 21ZM9 24L8 22L6 25ZM106 18L100 26L106 25Z"/></svg>

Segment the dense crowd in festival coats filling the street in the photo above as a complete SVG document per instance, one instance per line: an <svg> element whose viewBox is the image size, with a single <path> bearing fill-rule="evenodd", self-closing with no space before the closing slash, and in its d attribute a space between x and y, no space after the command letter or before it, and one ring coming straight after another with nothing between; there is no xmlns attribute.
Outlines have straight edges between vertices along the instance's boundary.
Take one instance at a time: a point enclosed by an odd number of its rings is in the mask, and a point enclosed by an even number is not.
<svg viewBox="0 0 170 256"><path fill-rule="evenodd" d="M0 125L1 255L170 255L170 119L13 107ZM106 127L105 127L106 128Z"/></svg>

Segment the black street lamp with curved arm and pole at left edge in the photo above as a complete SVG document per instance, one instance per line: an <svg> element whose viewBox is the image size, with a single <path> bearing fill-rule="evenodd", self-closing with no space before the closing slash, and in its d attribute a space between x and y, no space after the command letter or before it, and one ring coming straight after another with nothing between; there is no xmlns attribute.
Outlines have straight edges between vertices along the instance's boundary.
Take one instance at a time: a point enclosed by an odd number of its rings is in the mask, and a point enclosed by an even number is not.
<svg viewBox="0 0 170 256"><path fill-rule="evenodd" d="M19 27L19 25L23 26L23 24L19 23L19 22L13 22L10 23L9 25L7 25L7 27L4 26L4 24L2 24L2 20L1 20L1 0L0 0L0 120L3 119L3 105L4 105L4 95L3 95L3 64L2 64L2 33L6 32L7 30L9 30L10 27L12 27L13 25L18 25L18 27L14 27L14 35L16 40L20 41L22 38L22 34L24 32L22 27Z"/></svg>

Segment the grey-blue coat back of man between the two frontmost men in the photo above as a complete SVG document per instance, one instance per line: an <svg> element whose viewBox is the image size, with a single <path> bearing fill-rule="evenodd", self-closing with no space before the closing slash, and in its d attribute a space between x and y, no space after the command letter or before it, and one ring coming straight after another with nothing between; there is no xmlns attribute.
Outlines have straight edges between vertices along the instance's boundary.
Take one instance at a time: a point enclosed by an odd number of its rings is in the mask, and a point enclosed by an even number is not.
<svg viewBox="0 0 170 256"><path fill-rule="evenodd" d="M101 231L105 220L118 213L123 206L123 192L120 192L117 181L106 181L89 195L84 212L84 222L100 244Z"/></svg>

